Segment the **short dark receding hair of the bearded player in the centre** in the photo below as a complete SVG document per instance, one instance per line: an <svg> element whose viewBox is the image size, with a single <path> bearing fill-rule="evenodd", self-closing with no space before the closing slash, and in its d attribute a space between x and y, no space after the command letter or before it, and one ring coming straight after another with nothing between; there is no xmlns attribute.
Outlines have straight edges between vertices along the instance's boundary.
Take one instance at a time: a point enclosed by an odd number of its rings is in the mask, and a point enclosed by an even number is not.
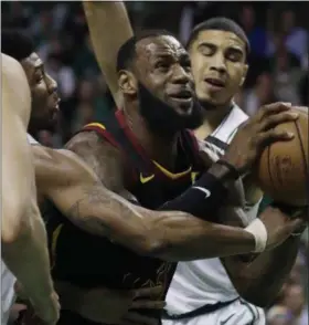
<svg viewBox="0 0 309 325"><path fill-rule="evenodd" d="M136 56L136 45L139 41L145 39L158 38L162 35L169 35L177 39L173 33L168 32L166 30L145 30L131 36L118 50L116 66L117 71L130 67Z"/></svg>

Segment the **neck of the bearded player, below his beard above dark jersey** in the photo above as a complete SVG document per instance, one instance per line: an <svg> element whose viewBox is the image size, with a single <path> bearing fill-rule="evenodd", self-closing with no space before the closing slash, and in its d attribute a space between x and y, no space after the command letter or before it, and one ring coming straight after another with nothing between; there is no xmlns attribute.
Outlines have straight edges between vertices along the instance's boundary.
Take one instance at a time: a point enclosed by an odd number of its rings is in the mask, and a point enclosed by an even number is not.
<svg viewBox="0 0 309 325"><path fill-rule="evenodd" d="M172 170L178 154L178 134L162 136L149 130L146 120L137 112L138 109L124 109L129 128L151 159Z"/></svg>

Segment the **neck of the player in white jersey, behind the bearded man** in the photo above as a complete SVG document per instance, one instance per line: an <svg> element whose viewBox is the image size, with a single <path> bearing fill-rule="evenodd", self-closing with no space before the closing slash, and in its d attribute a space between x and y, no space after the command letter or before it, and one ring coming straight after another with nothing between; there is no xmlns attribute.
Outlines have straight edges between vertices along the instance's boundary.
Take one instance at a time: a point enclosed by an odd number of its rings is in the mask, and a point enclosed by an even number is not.
<svg viewBox="0 0 309 325"><path fill-rule="evenodd" d="M195 129L196 137L199 139L204 139L211 135L221 125L225 116L230 114L231 109L232 103L204 111L203 124Z"/></svg>

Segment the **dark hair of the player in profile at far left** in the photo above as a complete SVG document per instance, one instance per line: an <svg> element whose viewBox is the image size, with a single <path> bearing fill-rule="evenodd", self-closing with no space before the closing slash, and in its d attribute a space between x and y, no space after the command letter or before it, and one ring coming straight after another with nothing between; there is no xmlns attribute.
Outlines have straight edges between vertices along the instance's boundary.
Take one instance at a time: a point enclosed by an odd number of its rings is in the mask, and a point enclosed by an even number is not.
<svg viewBox="0 0 309 325"><path fill-rule="evenodd" d="M28 57L35 51L34 44L28 35L19 30L1 31L1 52L17 61Z"/></svg>

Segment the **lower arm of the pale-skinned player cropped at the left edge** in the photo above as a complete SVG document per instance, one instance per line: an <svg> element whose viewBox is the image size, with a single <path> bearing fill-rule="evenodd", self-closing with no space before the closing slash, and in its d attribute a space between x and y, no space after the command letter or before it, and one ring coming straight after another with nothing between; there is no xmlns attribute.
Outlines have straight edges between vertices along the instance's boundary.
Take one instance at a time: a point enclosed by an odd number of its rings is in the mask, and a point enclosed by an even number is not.
<svg viewBox="0 0 309 325"><path fill-rule="evenodd" d="M46 232L38 207L31 207L29 223L12 241L2 241L2 258L22 284L25 294L35 304L50 300L52 280L47 253Z"/></svg>

